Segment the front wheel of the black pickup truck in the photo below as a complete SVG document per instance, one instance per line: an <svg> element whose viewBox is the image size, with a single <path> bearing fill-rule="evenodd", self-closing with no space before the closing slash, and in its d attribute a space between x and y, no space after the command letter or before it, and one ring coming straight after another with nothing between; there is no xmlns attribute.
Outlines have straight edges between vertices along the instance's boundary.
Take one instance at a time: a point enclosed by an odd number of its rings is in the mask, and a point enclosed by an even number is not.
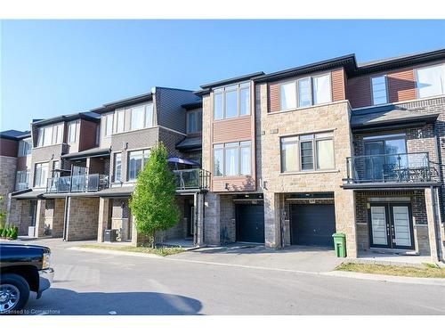
<svg viewBox="0 0 445 334"><path fill-rule="evenodd" d="M0 314L13 314L16 311L20 311L27 304L28 298L28 281L15 273L2 275L0 283Z"/></svg>

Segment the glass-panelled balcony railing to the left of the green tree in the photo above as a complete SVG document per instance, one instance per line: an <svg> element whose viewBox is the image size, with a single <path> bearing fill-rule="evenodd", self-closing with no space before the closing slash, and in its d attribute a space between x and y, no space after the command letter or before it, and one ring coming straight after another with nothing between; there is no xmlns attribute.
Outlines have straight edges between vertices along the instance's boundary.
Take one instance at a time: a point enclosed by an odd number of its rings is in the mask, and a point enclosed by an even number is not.
<svg viewBox="0 0 445 334"><path fill-rule="evenodd" d="M59 176L48 179L46 192L93 192L101 191L109 185L109 176L83 174Z"/></svg>

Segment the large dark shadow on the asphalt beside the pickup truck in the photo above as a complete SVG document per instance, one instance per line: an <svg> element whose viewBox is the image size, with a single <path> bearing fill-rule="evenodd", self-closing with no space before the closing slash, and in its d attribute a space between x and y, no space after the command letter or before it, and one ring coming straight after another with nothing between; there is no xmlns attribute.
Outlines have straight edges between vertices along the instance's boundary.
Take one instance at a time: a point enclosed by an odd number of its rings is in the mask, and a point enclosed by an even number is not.
<svg viewBox="0 0 445 334"><path fill-rule="evenodd" d="M198 314L201 302L158 292L76 292L51 288L42 298L29 297L24 314L51 315L182 315Z"/></svg>

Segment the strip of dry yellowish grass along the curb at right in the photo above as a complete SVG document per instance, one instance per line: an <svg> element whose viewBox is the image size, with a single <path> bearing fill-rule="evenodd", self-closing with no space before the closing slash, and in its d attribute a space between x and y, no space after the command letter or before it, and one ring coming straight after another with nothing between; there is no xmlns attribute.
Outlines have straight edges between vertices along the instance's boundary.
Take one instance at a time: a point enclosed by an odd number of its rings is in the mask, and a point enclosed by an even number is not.
<svg viewBox="0 0 445 334"><path fill-rule="evenodd" d="M344 272L378 273L392 276L445 278L445 268L433 264L424 264L422 267L414 267L344 263L337 266L336 270Z"/></svg>

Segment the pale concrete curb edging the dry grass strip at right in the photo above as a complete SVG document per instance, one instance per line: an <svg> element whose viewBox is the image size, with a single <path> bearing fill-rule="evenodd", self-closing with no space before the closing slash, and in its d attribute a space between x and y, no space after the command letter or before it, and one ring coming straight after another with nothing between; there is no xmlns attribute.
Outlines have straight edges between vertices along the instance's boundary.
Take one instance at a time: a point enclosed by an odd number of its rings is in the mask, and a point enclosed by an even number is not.
<svg viewBox="0 0 445 334"><path fill-rule="evenodd" d="M422 278L422 277L405 277L405 276L392 276L392 275L382 275L376 273L354 273L354 272L342 272L333 271L328 273L320 273L326 276L335 277L345 277L357 280L368 280L368 281L389 281L394 283L405 283L405 284L423 284L423 285L436 285L445 287L445 279L434 279L434 278Z"/></svg>

